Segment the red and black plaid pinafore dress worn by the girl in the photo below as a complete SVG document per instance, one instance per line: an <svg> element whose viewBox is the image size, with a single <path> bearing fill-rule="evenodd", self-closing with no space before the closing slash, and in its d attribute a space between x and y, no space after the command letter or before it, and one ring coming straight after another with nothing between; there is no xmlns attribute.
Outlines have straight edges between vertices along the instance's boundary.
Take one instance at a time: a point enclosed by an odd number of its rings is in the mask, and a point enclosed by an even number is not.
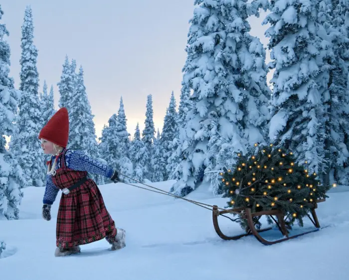
<svg viewBox="0 0 349 280"><path fill-rule="evenodd" d="M86 171L65 167L65 152L61 155L61 168L52 175L52 182L59 188L71 187L87 176ZM115 223L108 213L101 192L92 179L80 187L62 194L57 216L56 245L71 248L101 240L114 239Z"/></svg>

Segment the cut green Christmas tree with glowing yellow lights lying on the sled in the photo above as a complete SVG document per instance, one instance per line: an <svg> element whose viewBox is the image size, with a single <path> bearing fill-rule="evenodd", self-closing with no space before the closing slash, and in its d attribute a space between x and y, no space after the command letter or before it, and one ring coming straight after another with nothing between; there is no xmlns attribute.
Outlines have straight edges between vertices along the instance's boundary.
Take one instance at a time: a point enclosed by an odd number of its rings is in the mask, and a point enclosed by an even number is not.
<svg viewBox="0 0 349 280"><path fill-rule="evenodd" d="M249 148L245 155L235 154L234 169L220 173L223 197L229 197L229 207L251 208L251 212L279 209L285 215L288 228L308 215L318 199L328 197L329 186L320 183L318 174L310 173L308 162L297 163L291 151L270 146ZM260 217L253 217L260 228ZM272 220L267 216L268 223ZM247 229L246 219L237 219Z"/></svg>

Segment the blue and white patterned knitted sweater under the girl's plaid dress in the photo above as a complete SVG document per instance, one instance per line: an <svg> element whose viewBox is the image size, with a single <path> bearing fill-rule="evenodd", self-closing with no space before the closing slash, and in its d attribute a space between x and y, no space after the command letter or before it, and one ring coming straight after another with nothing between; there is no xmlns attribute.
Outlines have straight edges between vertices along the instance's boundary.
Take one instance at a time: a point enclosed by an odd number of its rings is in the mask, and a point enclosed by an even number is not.
<svg viewBox="0 0 349 280"><path fill-rule="evenodd" d="M55 156L52 156L52 163ZM67 150L65 153L66 167L77 171L87 171L88 173L98 174L107 178L112 177L113 169L100 163L97 160L91 159L79 151ZM61 167L60 157L57 160L56 168ZM56 200L59 189L53 184L51 175L46 175L46 189L43 197L44 204L53 204Z"/></svg>

